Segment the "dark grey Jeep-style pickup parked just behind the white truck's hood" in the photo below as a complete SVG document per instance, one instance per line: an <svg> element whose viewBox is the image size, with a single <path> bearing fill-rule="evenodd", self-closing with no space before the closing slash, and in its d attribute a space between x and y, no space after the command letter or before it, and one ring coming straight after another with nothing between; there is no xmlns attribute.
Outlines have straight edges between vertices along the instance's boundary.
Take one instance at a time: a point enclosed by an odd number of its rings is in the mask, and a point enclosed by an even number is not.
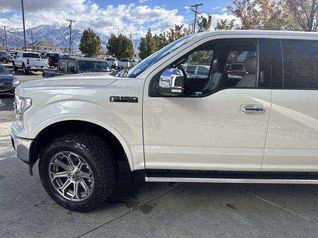
<svg viewBox="0 0 318 238"><path fill-rule="evenodd" d="M49 78L75 73L111 73L112 71L113 70L106 60L96 60L82 57L60 57L58 60L57 69L44 69L42 76Z"/></svg>

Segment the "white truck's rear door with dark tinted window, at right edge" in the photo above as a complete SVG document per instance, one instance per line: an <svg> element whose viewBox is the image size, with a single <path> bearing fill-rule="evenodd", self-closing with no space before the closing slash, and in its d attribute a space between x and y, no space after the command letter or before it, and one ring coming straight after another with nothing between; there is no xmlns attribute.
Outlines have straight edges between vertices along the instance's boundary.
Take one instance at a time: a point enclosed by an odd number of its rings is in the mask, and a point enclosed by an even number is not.
<svg viewBox="0 0 318 238"><path fill-rule="evenodd" d="M317 37L271 38L273 98L262 171L317 172Z"/></svg>

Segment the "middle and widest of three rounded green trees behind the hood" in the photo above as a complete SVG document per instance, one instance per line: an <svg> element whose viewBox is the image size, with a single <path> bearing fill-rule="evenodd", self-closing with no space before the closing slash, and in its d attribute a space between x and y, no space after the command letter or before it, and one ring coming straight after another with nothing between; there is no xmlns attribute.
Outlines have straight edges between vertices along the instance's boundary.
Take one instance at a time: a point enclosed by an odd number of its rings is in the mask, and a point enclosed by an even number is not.
<svg viewBox="0 0 318 238"><path fill-rule="evenodd" d="M118 59L131 59L135 52L133 42L127 36L122 34L120 34L118 37L116 37L114 34L111 34L106 47L109 54L115 55L115 57Z"/></svg>

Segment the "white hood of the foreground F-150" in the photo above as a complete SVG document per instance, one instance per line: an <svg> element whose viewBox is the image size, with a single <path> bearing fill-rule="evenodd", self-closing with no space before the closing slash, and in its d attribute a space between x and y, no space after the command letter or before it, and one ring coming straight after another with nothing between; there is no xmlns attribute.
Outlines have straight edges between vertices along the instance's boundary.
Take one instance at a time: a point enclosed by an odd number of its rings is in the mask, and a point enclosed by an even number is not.
<svg viewBox="0 0 318 238"><path fill-rule="evenodd" d="M44 78L31 80L21 83L15 93L22 95L22 91L47 91L52 89L80 89L80 88L96 88L112 84L118 77L111 76L108 73L83 73L67 76L58 76L52 78Z"/></svg>

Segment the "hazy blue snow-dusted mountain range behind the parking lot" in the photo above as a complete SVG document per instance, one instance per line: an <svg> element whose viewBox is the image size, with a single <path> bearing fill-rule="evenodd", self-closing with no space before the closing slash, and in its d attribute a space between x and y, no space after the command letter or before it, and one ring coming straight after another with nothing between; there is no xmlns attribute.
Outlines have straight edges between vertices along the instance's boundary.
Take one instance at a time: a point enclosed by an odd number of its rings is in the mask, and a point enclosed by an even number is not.
<svg viewBox="0 0 318 238"><path fill-rule="evenodd" d="M63 46L69 48L70 44L70 28L68 26L62 25L39 25L36 27L32 27L25 30L26 33L26 44L29 45L32 43L31 35L28 32L35 32L33 35L33 41L37 40L44 40L50 41L57 46ZM96 33L100 37L101 42L101 49L103 51L107 51L107 43L109 36L105 36L101 33ZM79 42L82 36L81 31L78 29L72 28L72 41L73 41L73 49L75 52L79 52ZM4 40L4 29L0 28L0 37L1 41L0 44L3 44ZM7 47L9 48L21 48L24 46L24 39L23 39L23 28L11 28L6 29L6 40L7 40ZM135 50L138 49L140 39L132 40L134 43Z"/></svg>

